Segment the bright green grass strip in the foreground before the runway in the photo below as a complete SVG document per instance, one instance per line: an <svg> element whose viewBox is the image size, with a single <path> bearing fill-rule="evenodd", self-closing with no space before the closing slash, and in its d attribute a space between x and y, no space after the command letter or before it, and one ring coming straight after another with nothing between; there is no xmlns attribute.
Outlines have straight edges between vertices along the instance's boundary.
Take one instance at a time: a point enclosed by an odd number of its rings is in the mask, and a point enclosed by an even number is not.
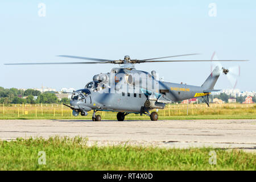
<svg viewBox="0 0 256 182"><path fill-rule="evenodd" d="M85 138L0 141L0 170L255 170L256 155L217 148L167 149L142 146L88 146ZM209 164L216 151L217 164ZM46 164L38 164L38 152Z"/></svg>

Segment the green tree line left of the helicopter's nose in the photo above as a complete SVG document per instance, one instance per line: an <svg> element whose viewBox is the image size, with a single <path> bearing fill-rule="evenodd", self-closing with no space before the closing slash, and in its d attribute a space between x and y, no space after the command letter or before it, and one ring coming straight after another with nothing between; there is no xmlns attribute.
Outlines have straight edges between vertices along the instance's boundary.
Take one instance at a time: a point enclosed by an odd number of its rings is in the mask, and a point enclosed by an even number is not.
<svg viewBox="0 0 256 182"><path fill-rule="evenodd" d="M37 96L36 100L34 96ZM26 98L22 98L26 97ZM43 92L39 90L27 89L19 90L16 88L5 89L0 86L0 103L5 104L57 104L63 102L69 104L68 98L57 98L55 92Z"/></svg>

